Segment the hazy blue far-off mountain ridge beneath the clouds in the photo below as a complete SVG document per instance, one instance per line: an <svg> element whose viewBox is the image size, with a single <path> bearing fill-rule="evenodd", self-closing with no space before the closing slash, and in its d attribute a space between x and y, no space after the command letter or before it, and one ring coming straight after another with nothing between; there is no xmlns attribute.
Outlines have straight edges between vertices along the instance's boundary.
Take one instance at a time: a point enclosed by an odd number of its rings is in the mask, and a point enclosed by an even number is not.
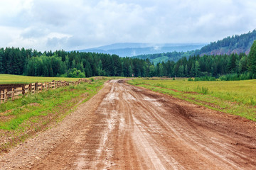
<svg viewBox="0 0 256 170"><path fill-rule="evenodd" d="M197 50L203 47L204 43L186 43L186 44L150 44L150 43L116 43L95 47L79 52L98 52L107 53L110 55L119 55L120 57L132 57L136 55L148 55L163 52L186 52Z"/></svg>

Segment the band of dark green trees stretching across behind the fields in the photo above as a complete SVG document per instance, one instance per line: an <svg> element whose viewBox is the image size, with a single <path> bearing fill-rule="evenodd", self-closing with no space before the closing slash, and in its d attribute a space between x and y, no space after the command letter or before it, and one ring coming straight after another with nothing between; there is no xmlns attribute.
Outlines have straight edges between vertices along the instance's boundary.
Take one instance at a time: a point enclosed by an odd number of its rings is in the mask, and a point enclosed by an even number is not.
<svg viewBox="0 0 256 170"><path fill-rule="evenodd" d="M149 59L91 52L37 52L24 48L0 49L0 73L39 77L221 77L243 75L255 79L256 41L250 54L192 55L177 62L154 64ZM246 76L245 76L246 75Z"/></svg>

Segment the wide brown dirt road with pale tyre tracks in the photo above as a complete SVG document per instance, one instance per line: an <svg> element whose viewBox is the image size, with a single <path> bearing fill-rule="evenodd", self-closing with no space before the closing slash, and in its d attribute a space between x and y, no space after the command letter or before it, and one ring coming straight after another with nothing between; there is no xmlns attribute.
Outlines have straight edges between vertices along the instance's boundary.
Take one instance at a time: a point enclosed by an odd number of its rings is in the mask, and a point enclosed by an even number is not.
<svg viewBox="0 0 256 170"><path fill-rule="evenodd" d="M0 169L256 169L256 124L171 96L105 84Z"/></svg>

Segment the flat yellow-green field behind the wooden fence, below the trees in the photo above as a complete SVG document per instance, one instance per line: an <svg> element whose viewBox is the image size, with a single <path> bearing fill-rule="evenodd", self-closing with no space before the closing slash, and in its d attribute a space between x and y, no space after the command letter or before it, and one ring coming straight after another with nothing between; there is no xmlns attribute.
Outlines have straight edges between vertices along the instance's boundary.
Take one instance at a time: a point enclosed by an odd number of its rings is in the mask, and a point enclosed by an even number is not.
<svg viewBox="0 0 256 170"><path fill-rule="evenodd" d="M0 74L0 84L30 84L30 83L43 83L49 81L77 81L80 78L67 78L67 77L27 77L17 76L11 74Z"/></svg>

